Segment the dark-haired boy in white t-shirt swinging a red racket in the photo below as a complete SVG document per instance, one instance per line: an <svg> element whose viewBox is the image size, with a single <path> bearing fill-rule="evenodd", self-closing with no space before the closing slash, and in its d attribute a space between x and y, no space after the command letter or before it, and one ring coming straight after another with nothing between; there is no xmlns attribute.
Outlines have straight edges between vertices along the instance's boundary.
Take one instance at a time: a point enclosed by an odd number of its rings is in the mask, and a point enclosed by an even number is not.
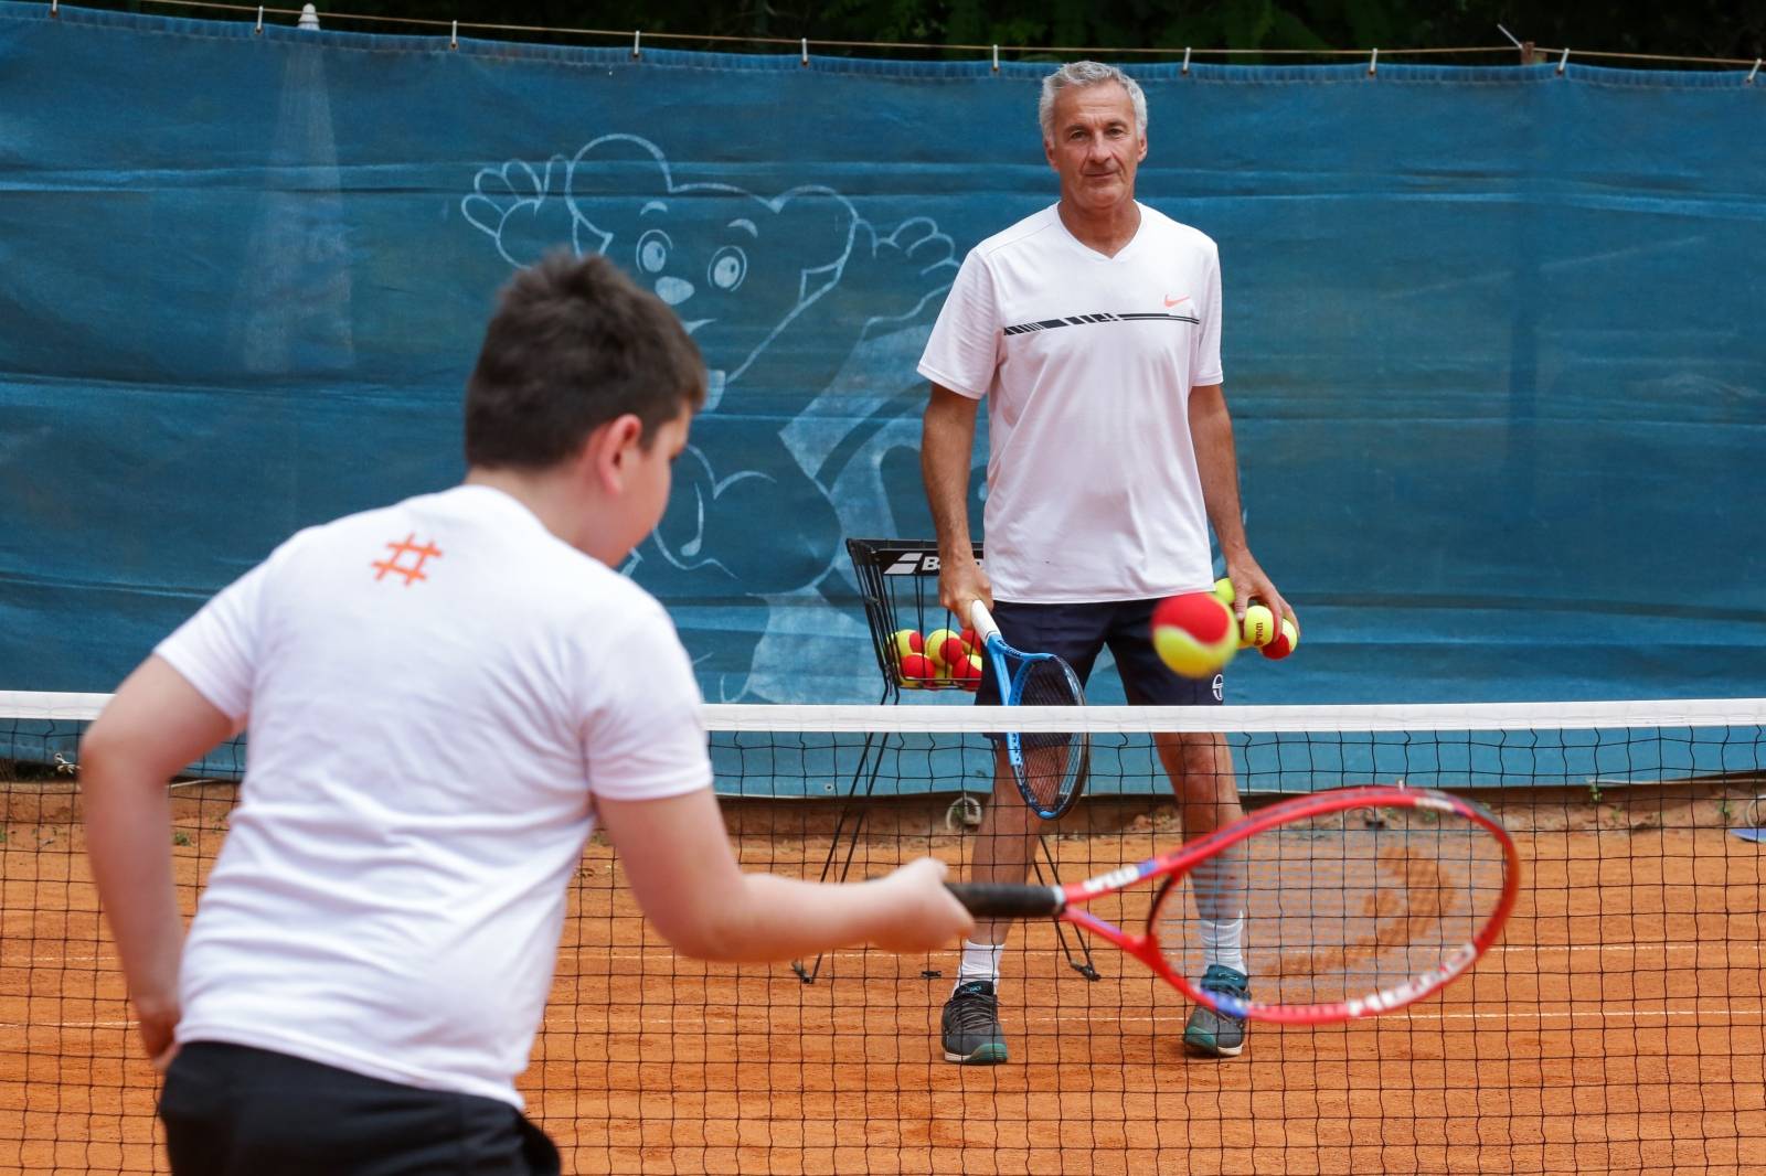
<svg viewBox="0 0 1766 1176"><path fill-rule="evenodd" d="M604 258L516 275L466 390L466 484L300 531L159 645L81 747L88 851L177 1176L556 1172L521 1116L593 825L678 950L925 952L973 927L915 862L743 874L699 692L616 569L705 399ZM189 941L166 779L251 722Z"/></svg>

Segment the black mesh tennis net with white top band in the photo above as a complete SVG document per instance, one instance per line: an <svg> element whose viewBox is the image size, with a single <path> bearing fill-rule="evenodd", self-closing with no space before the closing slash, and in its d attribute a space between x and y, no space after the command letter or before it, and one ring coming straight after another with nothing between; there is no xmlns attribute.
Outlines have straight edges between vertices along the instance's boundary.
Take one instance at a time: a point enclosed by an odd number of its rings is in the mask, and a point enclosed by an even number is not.
<svg viewBox="0 0 1766 1176"><path fill-rule="evenodd" d="M1194 717L1093 710L1088 795L1040 826L1045 879L1183 833L1150 733ZM90 701L0 697L0 1172L166 1171L155 1079L83 853L90 713ZM708 715L747 869L862 878L932 853L961 876L992 777L970 708ZM1766 883L1761 844L1738 835L1766 823L1766 701L1206 717L1250 809L1369 782L1475 795L1522 855L1501 943L1408 1010L1256 1026L1243 1056L1208 1061L1181 1052L1176 992L1074 929L1030 923L1001 964L1012 1061L954 1067L938 1022L955 945L796 969L683 961L597 837L521 1079L530 1114L574 1172L1766 1169ZM1075 724L1056 713L1045 729ZM185 911L242 758L221 749L207 779L173 786Z"/></svg>

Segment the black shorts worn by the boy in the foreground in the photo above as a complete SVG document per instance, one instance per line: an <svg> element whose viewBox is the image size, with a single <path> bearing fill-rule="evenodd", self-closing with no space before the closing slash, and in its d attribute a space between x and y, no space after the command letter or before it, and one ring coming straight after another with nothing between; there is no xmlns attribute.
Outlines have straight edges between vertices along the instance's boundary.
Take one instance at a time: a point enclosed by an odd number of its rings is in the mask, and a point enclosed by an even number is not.
<svg viewBox="0 0 1766 1176"><path fill-rule="evenodd" d="M219 1042L191 1042L171 1059L159 1118L175 1176L560 1171L558 1148L507 1102Z"/></svg>

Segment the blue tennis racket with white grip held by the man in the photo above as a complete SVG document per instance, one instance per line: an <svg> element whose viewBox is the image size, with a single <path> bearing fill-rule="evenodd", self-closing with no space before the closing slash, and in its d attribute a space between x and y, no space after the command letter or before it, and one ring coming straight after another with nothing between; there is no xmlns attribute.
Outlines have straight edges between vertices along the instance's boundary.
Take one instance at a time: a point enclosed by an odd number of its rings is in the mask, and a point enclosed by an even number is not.
<svg viewBox="0 0 1766 1176"><path fill-rule="evenodd" d="M1000 699L1007 706L1084 706L1086 692L1079 675L1054 653L1024 653L1000 636L987 606L970 607L970 623L987 646L987 662L1000 680ZM1008 731L1005 754L1012 763L1017 791L1031 812L1045 821L1065 814L1086 786L1091 736L1084 731Z"/></svg>

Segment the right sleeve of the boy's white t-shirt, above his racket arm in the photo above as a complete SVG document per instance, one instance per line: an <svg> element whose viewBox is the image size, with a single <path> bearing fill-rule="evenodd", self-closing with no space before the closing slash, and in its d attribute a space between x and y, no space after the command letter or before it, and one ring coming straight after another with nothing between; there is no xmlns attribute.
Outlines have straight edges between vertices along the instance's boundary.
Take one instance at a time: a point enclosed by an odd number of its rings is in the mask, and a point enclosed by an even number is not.
<svg viewBox="0 0 1766 1176"><path fill-rule="evenodd" d="M708 788L699 685L662 606L650 602L600 648L581 727L590 791L657 800Z"/></svg>

